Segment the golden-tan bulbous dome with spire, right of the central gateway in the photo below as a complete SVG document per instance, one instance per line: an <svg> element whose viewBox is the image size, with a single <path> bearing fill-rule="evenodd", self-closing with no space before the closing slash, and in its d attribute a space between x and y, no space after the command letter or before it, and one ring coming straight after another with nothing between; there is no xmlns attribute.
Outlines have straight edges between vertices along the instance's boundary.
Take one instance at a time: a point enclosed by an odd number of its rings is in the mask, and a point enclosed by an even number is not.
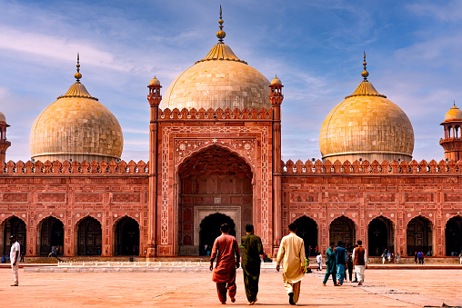
<svg viewBox="0 0 462 308"><path fill-rule="evenodd" d="M327 114L319 135L323 160L412 159L414 131L407 115L387 96L378 94L370 82L364 55L364 80Z"/></svg>

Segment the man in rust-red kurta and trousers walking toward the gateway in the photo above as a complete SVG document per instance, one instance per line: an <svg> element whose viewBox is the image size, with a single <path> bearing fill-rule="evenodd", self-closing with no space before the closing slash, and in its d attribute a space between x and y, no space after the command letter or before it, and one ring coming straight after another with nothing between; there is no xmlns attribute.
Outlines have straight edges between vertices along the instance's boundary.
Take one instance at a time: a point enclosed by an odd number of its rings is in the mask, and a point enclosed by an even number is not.
<svg viewBox="0 0 462 308"><path fill-rule="evenodd" d="M210 256L210 271L216 267L212 280L216 283L216 291L220 303L226 303L226 290L231 302L236 302L236 268L239 268L239 247L236 237L229 235L229 225L220 226L221 235L215 240ZM235 258L236 255L236 258Z"/></svg>

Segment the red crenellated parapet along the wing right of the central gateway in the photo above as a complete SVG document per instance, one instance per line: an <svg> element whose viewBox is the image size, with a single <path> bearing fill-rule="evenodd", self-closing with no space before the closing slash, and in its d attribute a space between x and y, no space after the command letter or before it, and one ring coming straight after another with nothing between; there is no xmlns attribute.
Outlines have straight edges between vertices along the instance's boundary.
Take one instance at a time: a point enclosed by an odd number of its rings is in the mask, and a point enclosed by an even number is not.
<svg viewBox="0 0 462 308"><path fill-rule="evenodd" d="M441 160L439 163L435 160L429 163L425 160L420 163L416 160L410 163L407 161L392 161L391 163L355 161L353 164L348 161L343 164L336 161L332 164L328 160L324 163L320 160L316 162L308 160L304 164L300 160L296 163L288 160L286 163L281 161L281 164L285 174L462 174L462 161L453 160Z"/></svg>

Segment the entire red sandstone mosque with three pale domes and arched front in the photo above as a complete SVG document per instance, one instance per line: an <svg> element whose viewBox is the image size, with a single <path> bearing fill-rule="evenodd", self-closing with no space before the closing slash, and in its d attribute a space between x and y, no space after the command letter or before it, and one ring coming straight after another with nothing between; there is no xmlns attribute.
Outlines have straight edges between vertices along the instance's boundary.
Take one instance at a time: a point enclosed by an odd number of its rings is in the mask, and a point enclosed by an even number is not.
<svg viewBox="0 0 462 308"><path fill-rule="evenodd" d="M363 80L320 127L322 160L281 160L283 84L224 43L176 77L148 84L149 162L121 161L116 117L81 83L38 114L31 160L7 163L0 113L0 253L15 233L26 256L204 255L231 225L253 223L276 253L296 222L306 250L361 239L369 255L462 250L462 111L441 125L446 160L412 160L414 132L397 104ZM14 129L15 124L12 124Z"/></svg>

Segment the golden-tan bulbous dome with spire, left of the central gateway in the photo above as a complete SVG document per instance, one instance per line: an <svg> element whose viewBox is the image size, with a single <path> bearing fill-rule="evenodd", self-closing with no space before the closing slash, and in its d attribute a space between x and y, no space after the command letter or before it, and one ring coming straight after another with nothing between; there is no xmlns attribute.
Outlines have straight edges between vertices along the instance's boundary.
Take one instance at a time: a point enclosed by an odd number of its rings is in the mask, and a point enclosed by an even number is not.
<svg viewBox="0 0 462 308"><path fill-rule="evenodd" d="M75 84L37 116L30 134L31 157L51 162L119 159L124 138L116 116L80 83L77 56Z"/></svg>

